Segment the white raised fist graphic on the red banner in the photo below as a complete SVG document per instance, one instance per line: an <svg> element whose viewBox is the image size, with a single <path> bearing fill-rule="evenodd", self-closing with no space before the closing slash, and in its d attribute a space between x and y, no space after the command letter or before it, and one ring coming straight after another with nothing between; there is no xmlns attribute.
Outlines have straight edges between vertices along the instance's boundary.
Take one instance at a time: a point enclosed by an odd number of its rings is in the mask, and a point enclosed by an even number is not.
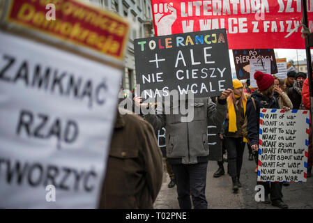
<svg viewBox="0 0 313 223"><path fill-rule="evenodd" d="M154 4L153 12L158 36L170 35L171 26L177 19L177 12L173 7L173 3Z"/></svg>

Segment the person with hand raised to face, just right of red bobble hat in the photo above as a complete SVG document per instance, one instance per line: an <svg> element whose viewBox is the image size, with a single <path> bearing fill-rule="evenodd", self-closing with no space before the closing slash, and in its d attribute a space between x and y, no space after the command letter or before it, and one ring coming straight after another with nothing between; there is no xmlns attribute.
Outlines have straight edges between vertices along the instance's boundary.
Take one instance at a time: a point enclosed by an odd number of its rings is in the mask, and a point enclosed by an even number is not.
<svg viewBox="0 0 313 223"><path fill-rule="evenodd" d="M287 93L284 92L284 88L286 87L285 80L284 79L278 79L275 77L274 80L274 97L278 101L278 104L280 105L280 108L287 106L291 109L293 108L292 102L289 99Z"/></svg>

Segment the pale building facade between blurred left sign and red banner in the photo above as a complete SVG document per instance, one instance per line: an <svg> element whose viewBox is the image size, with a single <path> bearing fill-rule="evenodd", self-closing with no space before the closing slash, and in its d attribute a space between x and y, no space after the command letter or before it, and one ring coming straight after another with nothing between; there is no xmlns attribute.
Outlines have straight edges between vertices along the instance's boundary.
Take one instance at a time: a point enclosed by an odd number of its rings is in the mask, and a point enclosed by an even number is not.
<svg viewBox="0 0 313 223"><path fill-rule="evenodd" d="M99 8L111 10L122 17L131 18L132 30L125 52L123 88L132 90L136 82L134 40L154 36L153 15L150 0L89 0Z"/></svg>

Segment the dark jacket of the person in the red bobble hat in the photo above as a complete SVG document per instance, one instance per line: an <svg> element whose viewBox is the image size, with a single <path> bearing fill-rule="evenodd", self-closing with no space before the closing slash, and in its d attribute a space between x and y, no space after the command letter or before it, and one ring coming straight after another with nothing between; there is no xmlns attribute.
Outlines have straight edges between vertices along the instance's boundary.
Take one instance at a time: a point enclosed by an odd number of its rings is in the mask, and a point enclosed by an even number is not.
<svg viewBox="0 0 313 223"><path fill-rule="evenodd" d="M252 99L247 100L247 137L251 142L251 145L259 145L259 124L260 124L260 109L261 108L271 108L279 109L280 105L278 101L272 96L272 98L267 98L261 95L258 91L254 91L251 95L254 98L257 110L254 109Z"/></svg>

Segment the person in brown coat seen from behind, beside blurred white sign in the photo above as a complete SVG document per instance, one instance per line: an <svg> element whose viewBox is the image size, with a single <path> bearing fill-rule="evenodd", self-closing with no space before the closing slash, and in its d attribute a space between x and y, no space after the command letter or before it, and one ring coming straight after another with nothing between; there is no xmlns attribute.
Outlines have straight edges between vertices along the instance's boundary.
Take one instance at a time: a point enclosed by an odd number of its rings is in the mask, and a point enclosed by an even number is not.
<svg viewBox="0 0 313 223"><path fill-rule="evenodd" d="M99 207L151 209L162 185L161 151L152 126L120 110L124 115L116 116Z"/></svg>

